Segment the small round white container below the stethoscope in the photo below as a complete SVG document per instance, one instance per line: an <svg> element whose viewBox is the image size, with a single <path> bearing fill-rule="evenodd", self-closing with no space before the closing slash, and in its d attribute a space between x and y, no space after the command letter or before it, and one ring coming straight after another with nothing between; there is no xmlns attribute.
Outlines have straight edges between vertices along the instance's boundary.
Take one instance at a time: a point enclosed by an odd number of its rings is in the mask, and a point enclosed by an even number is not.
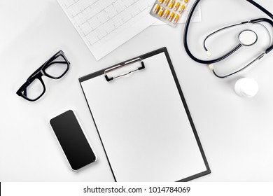
<svg viewBox="0 0 273 196"><path fill-rule="evenodd" d="M235 92L241 97L254 97L258 90L259 85L253 78L241 78L235 83Z"/></svg>

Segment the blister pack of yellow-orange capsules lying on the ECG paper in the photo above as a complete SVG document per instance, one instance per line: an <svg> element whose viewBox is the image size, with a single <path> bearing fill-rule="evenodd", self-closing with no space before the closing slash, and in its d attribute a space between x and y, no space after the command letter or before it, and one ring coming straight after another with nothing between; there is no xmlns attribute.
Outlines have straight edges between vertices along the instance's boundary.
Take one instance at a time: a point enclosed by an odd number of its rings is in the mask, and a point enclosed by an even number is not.
<svg viewBox="0 0 273 196"><path fill-rule="evenodd" d="M163 22L176 27L189 0L155 0L150 14Z"/></svg>

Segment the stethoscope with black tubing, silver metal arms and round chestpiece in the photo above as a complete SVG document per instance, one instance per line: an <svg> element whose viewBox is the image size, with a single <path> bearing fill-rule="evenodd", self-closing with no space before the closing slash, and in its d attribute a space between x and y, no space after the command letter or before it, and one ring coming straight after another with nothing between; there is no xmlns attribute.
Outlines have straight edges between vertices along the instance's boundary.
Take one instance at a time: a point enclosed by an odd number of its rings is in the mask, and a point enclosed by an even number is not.
<svg viewBox="0 0 273 196"><path fill-rule="evenodd" d="M262 6L260 6L255 1L252 1L252 0L246 0L246 1L248 1L253 6L259 8L260 10L262 10L262 12L264 12L265 14L267 14L273 20L273 15L268 10L266 10L265 8L263 8ZM194 10L195 10L195 8L196 8L196 6L198 5L199 2L200 2L200 0L196 0L195 3L193 3L193 7L190 9L190 13L188 14L188 19L186 21L185 30L184 30L184 37L183 37L184 47L185 47L185 50L186 50L186 52L188 53L188 55L190 56L191 59L193 59L193 60L195 60L195 62L199 62L201 64L207 64L209 66L209 69L211 69L211 71L213 71L214 75L217 76L218 78L227 78L228 76L232 76L235 73L238 73L239 71L243 71L248 66L250 66L254 62L258 61L258 59L261 59L263 56L265 56L267 53L269 53L273 49L273 44L271 43L271 45L265 51L263 51L262 53L260 53L260 55L258 55L258 57L255 57L251 62L249 62L248 64L246 64L245 66L243 66L241 69L239 69L239 70L237 70L235 72L232 72L232 73L230 73L228 75L220 76L214 70L214 63L220 62L221 60L229 57L234 52L236 52L237 50L239 50L239 48L241 48L242 46L253 45L258 40L258 36L255 33L255 31L250 30L250 29L246 29L244 31L241 31L238 34L238 43L237 43L237 45L235 45L235 47L232 48L230 51L228 51L225 54L221 55L221 57L217 57L215 59L209 59L209 60L198 59L197 57L195 57L192 54L192 52L190 52L190 50L188 48L188 39L187 38L188 38L188 28L190 26L190 20L191 20L191 18L193 16L193 12L194 12ZM244 22L237 23L235 25L229 25L228 27L223 27L221 29L218 29L218 30L214 31L213 33L209 34L204 39L204 43L203 43L204 50L207 52L207 55L209 55L209 56L211 55L211 52L207 49L207 46L206 46L207 38L209 38L209 37L217 34L220 31L223 31L225 29L229 29L229 28L232 28L232 27L236 27L236 26L239 26L239 25L255 24L255 23L258 23L258 22L267 22L267 23L269 23L269 25L271 25L273 27L273 21L272 20L269 20L268 18L257 18L257 19L254 19L254 20L244 21ZM262 26L264 26L264 25L262 25Z"/></svg>

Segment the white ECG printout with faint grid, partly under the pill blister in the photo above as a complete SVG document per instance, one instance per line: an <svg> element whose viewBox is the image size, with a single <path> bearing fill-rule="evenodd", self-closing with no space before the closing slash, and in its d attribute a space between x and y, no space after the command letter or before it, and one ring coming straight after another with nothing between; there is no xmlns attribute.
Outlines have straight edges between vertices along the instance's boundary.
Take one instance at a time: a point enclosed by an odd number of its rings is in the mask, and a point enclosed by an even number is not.
<svg viewBox="0 0 273 196"><path fill-rule="evenodd" d="M97 60L159 21L149 14L155 0L57 1Z"/></svg>

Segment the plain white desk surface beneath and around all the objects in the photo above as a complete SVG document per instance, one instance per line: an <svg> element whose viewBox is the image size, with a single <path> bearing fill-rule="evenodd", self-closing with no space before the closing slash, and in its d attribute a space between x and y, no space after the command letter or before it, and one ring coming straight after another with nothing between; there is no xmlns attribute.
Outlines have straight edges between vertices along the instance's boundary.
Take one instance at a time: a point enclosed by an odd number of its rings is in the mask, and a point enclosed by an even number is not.
<svg viewBox="0 0 273 196"><path fill-rule="evenodd" d="M258 3L273 12L272 0ZM190 27L190 48L201 54L208 32L261 17L246 1L202 1L202 22ZM164 46L211 168L194 181L273 181L272 54L244 73L218 79L186 54L184 25L149 27L97 62L55 0L0 1L0 21L0 181L113 181L78 78ZM61 80L44 78L47 92L38 102L18 97L20 85L60 49L71 62L69 73ZM235 94L242 77L257 80L255 97ZM64 109L77 113L98 156L78 172L69 169L48 123Z"/></svg>

